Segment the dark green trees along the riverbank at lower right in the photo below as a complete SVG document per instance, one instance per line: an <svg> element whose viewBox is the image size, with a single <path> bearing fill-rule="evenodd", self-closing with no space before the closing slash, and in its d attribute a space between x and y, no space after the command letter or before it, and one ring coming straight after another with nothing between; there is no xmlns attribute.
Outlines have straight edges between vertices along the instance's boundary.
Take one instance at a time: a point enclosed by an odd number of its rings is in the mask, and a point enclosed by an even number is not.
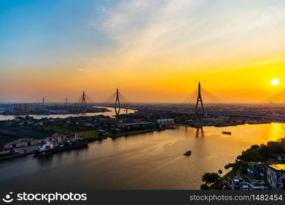
<svg viewBox="0 0 285 205"><path fill-rule="evenodd" d="M249 149L243 151L241 155L236 157L234 163L228 163L225 165L226 174L221 176L222 171L219 173L207 172L202 176L204 184L201 185L201 189L226 189L228 177L237 176L239 174L246 175L247 167L250 162L258 162L264 165L275 163L273 154L285 154L285 137L278 141L269 141L265 145L253 145Z"/></svg>

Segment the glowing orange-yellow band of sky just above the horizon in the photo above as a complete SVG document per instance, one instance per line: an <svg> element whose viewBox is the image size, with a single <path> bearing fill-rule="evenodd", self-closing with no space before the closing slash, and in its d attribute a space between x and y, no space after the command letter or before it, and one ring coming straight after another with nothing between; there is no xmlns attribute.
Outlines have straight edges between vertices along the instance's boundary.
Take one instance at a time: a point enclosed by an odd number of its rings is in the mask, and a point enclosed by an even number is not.
<svg viewBox="0 0 285 205"><path fill-rule="evenodd" d="M76 101L85 90L92 100L99 102L119 87L131 102L183 102L201 81L206 91L223 102L260 102L284 89L285 60L282 58L223 66L225 68L213 64L211 69L192 69L190 64L171 66L170 69L115 70L104 74L96 71L70 74L68 70L53 69L15 71L12 73L14 79L3 86L10 89L2 89L2 92L10 98L16 95L16 99L23 99L21 102L39 101L42 96L50 102L60 102L66 96ZM271 85L273 78L279 78L280 85Z"/></svg>

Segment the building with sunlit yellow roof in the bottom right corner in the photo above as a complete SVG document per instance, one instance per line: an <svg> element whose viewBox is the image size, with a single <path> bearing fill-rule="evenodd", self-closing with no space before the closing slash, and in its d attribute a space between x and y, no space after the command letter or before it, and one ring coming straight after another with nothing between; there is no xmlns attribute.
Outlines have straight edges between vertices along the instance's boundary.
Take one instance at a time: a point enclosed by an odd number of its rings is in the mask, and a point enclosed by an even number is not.
<svg viewBox="0 0 285 205"><path fill-rule="evenodd" d="M267 182L273 190L284 190L285 164L267 165Z"/></svg>

